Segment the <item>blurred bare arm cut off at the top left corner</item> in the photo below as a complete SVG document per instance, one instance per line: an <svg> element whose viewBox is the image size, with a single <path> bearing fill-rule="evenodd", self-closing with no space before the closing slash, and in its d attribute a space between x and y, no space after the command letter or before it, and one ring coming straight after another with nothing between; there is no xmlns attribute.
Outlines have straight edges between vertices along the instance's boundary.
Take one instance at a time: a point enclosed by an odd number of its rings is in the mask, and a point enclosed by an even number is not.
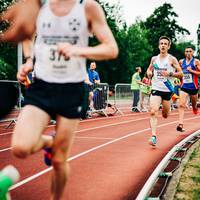
<svg viewBox="0 0 200 200"><path fill-rule="evenodd" d="M10 23L10 27L0 34L0 41L19 42L31 38L39 10L40 0L19 0L10 6L0 17L0 22Z"/></svg>

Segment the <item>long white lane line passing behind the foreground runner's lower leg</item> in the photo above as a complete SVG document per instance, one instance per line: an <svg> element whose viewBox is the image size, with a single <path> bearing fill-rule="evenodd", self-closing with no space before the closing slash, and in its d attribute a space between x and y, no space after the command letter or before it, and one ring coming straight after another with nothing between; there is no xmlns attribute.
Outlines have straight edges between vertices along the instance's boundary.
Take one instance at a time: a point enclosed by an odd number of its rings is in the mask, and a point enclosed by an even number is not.
<svg viewBox="0 0 200 200"><path fill-rule="evenodd" d="M192 120L192 119L197 119L197 118L200 118L200 116L199 116L199 117L187 118L185 121ZM159 126L157 126L157 127L160 128L160 127L163 127L163 126L168 126L168 125L171 125L171 124L175 124L175 123L177 123L177 122L178 122L178 121L173 121L173 122L161 124L161 125L159 125ZM79 153L79 154L77 154L77 155L75 155L75 156L72 156L72 157L70 157L70 158L68 159L68 161L75 160L75 159L80 158L80 157L82 157L82 156L85 156L85 155L87 155L87 154L89 154L89 153L91 153L91 152L93 152L93 151L95 151L95 150L97 150L97 149L103 148L103 147L108 146L108 145L110 145L110 144L116 143L116 142L118 142L118 141L120 141L120 140L126 139L126 138L128 138L128 137L131 137L131 136L134 136L134 135L137 135L137 134L139 134L139 133L142 133L142 132L145 132L145 131L149 131L149 130L150 130L150 128L146 128L146 129L143 129L143 130L140 130L140 131L136 131L136 132L129 133L129 134L123 136L123 137L116 138L116 139L114 139L114 140L112 140L112 141L106 142L106 143L101 144L101 145L98 145L98 146L96 146L96 147L94 147L94 148L88 149L88 150L86 150L86 151L84 151L84 152L82 152L82 153ZM42 170L41 172L36 173L36 174L34 174L34 175L32 175L32 176L30 176L30 177L28 177L28 178L26 178L26 179L24 179L24 180L18 182L18 183L16 183L15 185L13 185L13 186L10 188L10 190L14 190L14 189L16 189L16 188L18 188L18 187L20 187L20 186L22 186L22 185L24 185L24 184L26 184L26 183L32 181L32 180L38 178L39 176L41 176L41 175L43 175L43 174L49 172L50 170L52 170L52 167L49 167L49 168L47 168L47 169L45 169L45 170Z"/></svg>

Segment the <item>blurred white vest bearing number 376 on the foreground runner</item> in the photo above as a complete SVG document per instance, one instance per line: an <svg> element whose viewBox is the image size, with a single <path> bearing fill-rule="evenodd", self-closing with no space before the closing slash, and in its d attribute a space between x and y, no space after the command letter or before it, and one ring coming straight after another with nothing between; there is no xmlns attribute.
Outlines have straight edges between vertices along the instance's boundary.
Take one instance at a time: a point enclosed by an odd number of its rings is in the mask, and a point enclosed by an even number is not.
<svg viewBox="0 0 200 200"><path fill-rule="evenodd" d="M88 46L88 24L85 1L76 0L65 16L56 16L47 0L41 7L36 22L34 71L36 78L51 83L77 83L85 80L86 59L65 58L57 52L58 43Z"/></svg>

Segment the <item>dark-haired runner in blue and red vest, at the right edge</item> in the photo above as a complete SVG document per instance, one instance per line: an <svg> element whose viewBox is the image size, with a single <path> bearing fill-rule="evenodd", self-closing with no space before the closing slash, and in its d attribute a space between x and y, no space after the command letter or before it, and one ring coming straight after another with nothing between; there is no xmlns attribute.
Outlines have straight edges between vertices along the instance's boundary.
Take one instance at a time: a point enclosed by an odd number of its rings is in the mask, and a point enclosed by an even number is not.
<svg viewBox="0 0 200 200"><path fill-rule="evenodd" d="M184 109L186 107L187 97L191 97L193 113L198 113L198 75L200 75L200 61L194 58L194 49L189 46L185 48L185 58L179 61L183 70L183 80L181 84L179 100L179 124L177 131L185 131L183 128Z"/></svg>

